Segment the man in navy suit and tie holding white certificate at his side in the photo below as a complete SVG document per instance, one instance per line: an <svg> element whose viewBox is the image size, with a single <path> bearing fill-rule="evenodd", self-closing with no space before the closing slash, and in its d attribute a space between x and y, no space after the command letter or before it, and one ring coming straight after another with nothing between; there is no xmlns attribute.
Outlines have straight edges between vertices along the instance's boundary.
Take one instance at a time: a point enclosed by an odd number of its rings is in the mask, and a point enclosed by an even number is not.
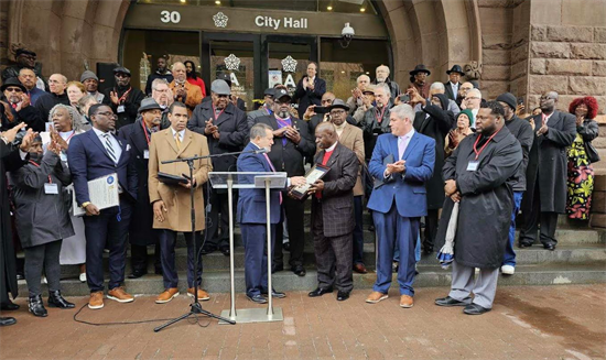
<svg viewBox="0 0 606 360"><path fill-rule="evenodd" d="M74 175L76 201L85 210L86 279L90 288L88 307L104 307L104 249L109 248L108 298L130 303L134 297L121 284L125 281L127 236L137 199L137 171L130 162L130 146L111 131L116 114L107 105L94 105L88 110L93 129L74 137L67 150L69 170ZM88 182L116 173L120 205L99 210L90 203Z"/></svg>

